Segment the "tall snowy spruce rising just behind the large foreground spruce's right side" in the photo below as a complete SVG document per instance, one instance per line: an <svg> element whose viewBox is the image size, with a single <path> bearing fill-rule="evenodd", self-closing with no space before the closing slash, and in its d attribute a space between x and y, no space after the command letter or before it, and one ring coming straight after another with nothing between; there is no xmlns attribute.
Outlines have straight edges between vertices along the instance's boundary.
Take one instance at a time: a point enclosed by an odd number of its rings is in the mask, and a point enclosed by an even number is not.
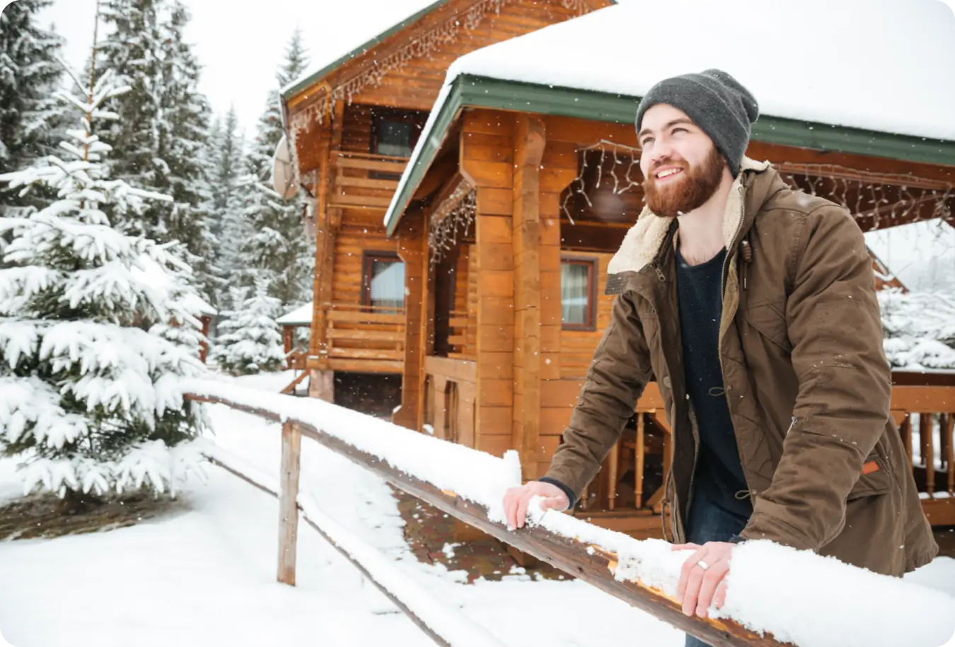
<svg viewBox="0 0 955 647"><path fill-rule="evenodd" d="M182 242L183 260L211 298L215 243L202 164L210 111L198 90L200 66L183 40L189 12L178 0L105 0L101 12L109 33L100 50L131 88L109 106L120 116L108 135L117 147L111 174L173 198L114 224L159 242Z"/></svg>

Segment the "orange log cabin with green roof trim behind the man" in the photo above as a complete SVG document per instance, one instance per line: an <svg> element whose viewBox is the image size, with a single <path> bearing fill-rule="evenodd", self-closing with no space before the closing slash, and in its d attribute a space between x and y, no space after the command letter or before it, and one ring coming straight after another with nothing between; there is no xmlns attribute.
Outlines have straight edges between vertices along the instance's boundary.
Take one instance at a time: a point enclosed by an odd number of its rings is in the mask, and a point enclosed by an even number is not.
<svg viewBox="0 0 955 647"><path fill-rule="evenodd" d="M670 73L658 62L633 79L612 62L600 73L644 17L613 4L435 3L286 91L316 232L312 396L338 398L346 375L374 388L387 385L373 375L399 376L396 424L517 449L525 479L546 470L609 321L607 262L642 208L640 93ZM465 27L435 40L452 22ZM758 78L729 55L727 69ZM840 202L866 231L955 223L955 135L817 104L771 100L748 156ZM875 256L873 267L877 283L902 287ZM955 374L897 372L894 383L925 510L955 525ZM573 513L658 536L671 455L651 383Z"/></svg>

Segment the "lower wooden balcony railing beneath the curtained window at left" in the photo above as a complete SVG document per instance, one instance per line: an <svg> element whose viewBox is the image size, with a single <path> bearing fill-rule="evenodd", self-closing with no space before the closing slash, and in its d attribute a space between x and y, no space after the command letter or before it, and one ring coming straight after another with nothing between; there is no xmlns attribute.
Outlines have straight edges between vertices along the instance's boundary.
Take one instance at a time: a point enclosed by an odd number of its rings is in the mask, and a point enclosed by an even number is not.
<svg viewBox="0 0 955 647"><path fill-rule="evenodd" d="M326 350L332 370L400 373L405 359L403 308L330 303Z"/></svg>

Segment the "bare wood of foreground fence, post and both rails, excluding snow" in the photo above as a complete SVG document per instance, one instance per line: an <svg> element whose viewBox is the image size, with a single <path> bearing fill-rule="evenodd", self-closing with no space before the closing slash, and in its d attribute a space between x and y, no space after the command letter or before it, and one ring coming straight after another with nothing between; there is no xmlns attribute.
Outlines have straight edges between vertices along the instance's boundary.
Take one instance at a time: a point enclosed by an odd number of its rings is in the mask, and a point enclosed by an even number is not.
<svg viewBox="0 0 955 647"><path fill-rule="evenodd" d="M477 506L452 492L438 490L430 483L396 470L387 462L366 451L351 447L340 438L315 428L308 422L294 419L282 420L273 411L232 402L224 398L199 394L187 394L186 397L197 402L223 404L284 424L281 492L268 490L261 483L256 483L254 479L249 478L248 475L240 473L240 470L230 470L260 489L280 496L282 511L279 546L280 581L289 584L293 584L295 581L295 540L298 515L293 511L298 510L296 506L300 507L300 501L297 501L298 473L300 471L299 452L301 450L300 438L305 437L349 458L356 465L370 470L391 483L395 488L408 492L435 508L455 516L464 523L514 546L523 553L531 554L605 593L619 597L629 605L664 620L676 629L698 637L713 645L713 647L780 647L781 645L773 637L759 636L732 620L684 616L680 604L675 599L639 583L615 579L613 569L616 567L617 555L614 553L593 550L594 547L584 542L570 539L555 532L549 532L540 527L528 527L516 532L508 531L503 525L488 519L483 507ZM215 459L213 458L213 460ZM222 465L222 462L219 462L219 464ZM226 467L226 469L229 468ZM321 529L316 530L322 532ZM352 556L346 555L346 557L365 572L362 565L356 563ZM423 623L421 618L416 616L404 602L395 599L395 595L392 595L373 578L371 578L371 581L385 595L388 595L398 608L410 614L415 623L435 639L438 644L451 644L444 637L436 634L434 627Z"/></svg>

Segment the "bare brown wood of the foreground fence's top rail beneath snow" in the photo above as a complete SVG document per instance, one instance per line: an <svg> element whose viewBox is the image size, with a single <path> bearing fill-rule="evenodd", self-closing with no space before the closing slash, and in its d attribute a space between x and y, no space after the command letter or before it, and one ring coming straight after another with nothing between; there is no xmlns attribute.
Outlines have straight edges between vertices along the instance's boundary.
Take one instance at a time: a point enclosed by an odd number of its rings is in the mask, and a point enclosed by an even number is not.
<svg viewBox="0 0 955 647"><path fill-rule="evenodd" d="M188 393L186 398L196 402L223 404L268 420L280 422L279 414L243 403ZM478 506L453 493L438 490L430 483L414 478L414 476L410 476L402 470L397 470L377 456L356 449L340 438L315 428L305 421L292 420L292 422L298 423L303 436L348 458L359 467L369 470L391 483L395 488L406 491L438 510L490 534L499 541L514 546L524 553L534 555L564 573L573 575L609 595L618 597L627 604L667 622L676 629L706 641L713 647L781 647L780 643L776 642L773 637L769 635L759 636L729 619L716 620L699 616L685 616L680 603L675 598L668 597L655 589L650 589L636 582L618 581L612 571L616 567L614 563L616 555L613 553L592 551L590 550L591 546L584 542L549 532L540 527L525 527L517 531L510 531L503 524L491 521L487 516L487 511L482 506ZM258 487L268 491L262 486Z"/></svg>

